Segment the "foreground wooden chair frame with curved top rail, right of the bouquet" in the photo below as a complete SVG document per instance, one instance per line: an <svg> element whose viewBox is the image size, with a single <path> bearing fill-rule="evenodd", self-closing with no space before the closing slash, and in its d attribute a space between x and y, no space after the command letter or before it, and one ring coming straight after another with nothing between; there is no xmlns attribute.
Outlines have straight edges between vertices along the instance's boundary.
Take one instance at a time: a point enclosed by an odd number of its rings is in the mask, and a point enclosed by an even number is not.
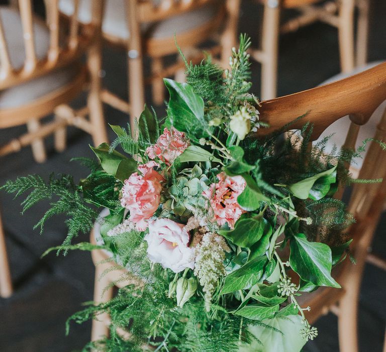
<svg viewBox="0 0 386 352"><path fill-rule="evenodd" d="M361 126L369 121L372 113L385 100L386 63L382 63L339 81L262 102L260 119L267 122L270 128L260 129L257 136L276 130L308 112L304 119L289 128L300 129L306 121L310 121L314 124L312 140L317 140L327 127L349 115L351 124L343 147L352 149L355 147ZM336 132L346 131L337 130ZM373 137L386 141L385 113ZM337 267L336 280L341 284L342 289L322 288L301 297L303 306L312 307L311 312L307 314L311 323L329 311L337 314L342 352L358 351L356 325L360 282L367 250L386 200L386 163L379 162L385 158L383 153L377 143L370 143L359 171L359 178L383 178L384 181L381 184L356 184L348 204L348 211L357 220L349 230L354 239L351 248L356 258L356 265L352 265L350 260L345 260L340 267Z"/></svg>

